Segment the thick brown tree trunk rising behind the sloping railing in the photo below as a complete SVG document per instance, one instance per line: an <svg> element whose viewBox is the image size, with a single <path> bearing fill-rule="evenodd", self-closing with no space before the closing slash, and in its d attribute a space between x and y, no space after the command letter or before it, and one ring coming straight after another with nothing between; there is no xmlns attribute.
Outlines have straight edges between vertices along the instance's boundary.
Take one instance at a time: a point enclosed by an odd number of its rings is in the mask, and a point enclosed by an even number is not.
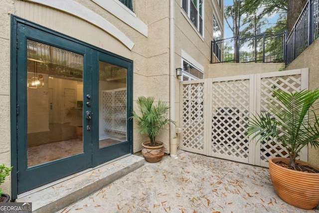
<svg viewBox="0 0 319 213"><path fill-rule="evenodd" d="M308 0L288 0L287 9L287 30L288 33L293 30L300 13L303 11L304 6Z"/></svg>

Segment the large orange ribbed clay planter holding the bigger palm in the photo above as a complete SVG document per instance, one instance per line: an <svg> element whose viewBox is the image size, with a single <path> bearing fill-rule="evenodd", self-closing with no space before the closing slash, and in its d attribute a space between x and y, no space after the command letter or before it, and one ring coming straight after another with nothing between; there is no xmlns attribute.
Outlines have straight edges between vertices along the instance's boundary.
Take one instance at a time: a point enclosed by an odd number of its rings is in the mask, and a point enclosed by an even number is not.
<svg viewBox="0 0 319 213"><path fill-rule="evenodd" d="M277 195L286 203L310 210L319 204L319 173L306 173L281 167L276 162L289 163L289 158L269 159L269 174ZM313 165L296 160L296 163Z"/></svg>

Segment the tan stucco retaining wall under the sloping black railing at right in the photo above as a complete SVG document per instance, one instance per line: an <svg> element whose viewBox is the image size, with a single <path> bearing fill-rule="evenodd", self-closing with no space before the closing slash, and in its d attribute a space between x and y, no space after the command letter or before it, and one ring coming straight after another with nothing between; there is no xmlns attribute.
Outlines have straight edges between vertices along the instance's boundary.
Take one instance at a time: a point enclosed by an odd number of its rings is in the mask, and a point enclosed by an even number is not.
<svg viewBox="0 0 319 213"><path fill-rule="evenodd" d="M319 88L319 39L299 55L286 70L309 68L309 89ZM319 150L308 148L308 161L319 167Z"/></svg>

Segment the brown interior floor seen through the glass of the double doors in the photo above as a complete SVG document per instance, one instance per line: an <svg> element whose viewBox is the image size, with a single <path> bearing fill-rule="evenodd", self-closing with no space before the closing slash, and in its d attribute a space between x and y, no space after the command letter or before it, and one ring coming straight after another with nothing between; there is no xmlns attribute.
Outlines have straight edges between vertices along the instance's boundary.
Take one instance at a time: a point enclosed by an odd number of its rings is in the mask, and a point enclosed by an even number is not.
<svg viewBox="0 0 319 213"><path fill-rule="evenodd" d="M103 148L120 141L111 138L99 141L99 147ZM70 139L48 144L42 144L28 148L28 167L54 161L83 152L82 141Z"/></svg>

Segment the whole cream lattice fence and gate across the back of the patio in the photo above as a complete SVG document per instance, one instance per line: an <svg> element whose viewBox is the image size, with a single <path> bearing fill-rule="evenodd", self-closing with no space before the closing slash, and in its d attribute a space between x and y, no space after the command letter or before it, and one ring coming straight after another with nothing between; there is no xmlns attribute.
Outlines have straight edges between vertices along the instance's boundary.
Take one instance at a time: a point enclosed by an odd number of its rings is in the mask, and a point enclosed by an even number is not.
<svg viewBox="0 0 319 213"><path fill-rule="evenodd" d="M274 89L308 89L308 75L305 68L180 82L179 148L264 167L270 157L288 157L281 145L250 141L245 136L246 122L267 111ZM307 161L307 148L299 158Z"/></svg>

